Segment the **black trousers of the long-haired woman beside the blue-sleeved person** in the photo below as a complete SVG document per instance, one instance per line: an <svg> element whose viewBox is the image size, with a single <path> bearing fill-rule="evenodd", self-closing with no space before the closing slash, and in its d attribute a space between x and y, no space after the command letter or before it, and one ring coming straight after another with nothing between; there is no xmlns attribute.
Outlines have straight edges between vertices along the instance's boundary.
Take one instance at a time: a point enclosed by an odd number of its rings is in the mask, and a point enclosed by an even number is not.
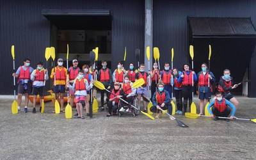
<svg viewBox="0 0 256 160"><path fill-rule="evenodd" d="M192 86L182 86L183 111L184 112L187 112L188 101L189 101L189 106L191 106L192 92L193 92ZM189 108L189 111L190 111L190 108Z"/></svg>

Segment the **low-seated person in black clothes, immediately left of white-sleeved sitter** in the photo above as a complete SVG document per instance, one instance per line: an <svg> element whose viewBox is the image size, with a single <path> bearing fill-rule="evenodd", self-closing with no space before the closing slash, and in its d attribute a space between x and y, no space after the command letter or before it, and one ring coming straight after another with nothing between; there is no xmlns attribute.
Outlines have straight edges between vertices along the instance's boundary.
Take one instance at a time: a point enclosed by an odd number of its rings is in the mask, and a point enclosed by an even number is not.
<svg viewBox="0 0 256 160"><path fill-rule="evenodd" d="M122 97L121 90L120 90L120 83L115 82L114 88L111 90L111 93L109 95L108 115L107 116L116 115L120 97Z"/></svg>

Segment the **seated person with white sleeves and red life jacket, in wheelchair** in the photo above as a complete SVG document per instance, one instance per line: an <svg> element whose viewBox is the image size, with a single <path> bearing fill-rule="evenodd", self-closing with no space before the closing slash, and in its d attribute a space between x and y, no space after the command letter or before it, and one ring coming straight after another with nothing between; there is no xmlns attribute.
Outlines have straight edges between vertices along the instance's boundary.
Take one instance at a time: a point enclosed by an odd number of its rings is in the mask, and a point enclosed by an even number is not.
<svg viewBox="0 0 256 160"><path fill-rule="evenodd" d="M122 99L127 101L129 104L133 104L134 96L136 95L136 88L132 88L132 82L129 81L129 76L126 75L124 76L124 83L122 85ZM120 106L119 106L119 111L120 112L129 112L133 111L133 108L131 106L127 105L125 102L122 100L120 101Z"/></svg>

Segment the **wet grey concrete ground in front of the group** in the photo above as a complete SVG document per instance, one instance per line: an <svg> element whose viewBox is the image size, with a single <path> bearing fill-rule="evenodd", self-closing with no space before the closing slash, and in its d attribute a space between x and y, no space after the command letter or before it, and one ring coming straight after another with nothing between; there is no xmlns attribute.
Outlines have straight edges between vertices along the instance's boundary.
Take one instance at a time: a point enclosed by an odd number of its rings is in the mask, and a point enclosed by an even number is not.
<svg viewBox="0 0 256 160"><path fill-rule="evenodd" d="M238 98L237 117L256 118L256 99ZM66 120L63 113L12 115L12 99L0 98L0 159L256 159L256 124L143 115ZM196 104L198 104L196 102ZM31 104L30 104L31 105ZM22 108L23 109L23 108Z"/></svg>

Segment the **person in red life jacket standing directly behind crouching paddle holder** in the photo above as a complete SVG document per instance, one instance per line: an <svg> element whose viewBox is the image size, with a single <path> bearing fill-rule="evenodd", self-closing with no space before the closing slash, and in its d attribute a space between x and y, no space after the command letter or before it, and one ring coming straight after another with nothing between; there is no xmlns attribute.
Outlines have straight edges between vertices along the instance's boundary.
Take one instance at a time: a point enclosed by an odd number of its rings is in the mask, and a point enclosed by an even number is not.
<svg viewBox="0 0 256 160"><path fill-rule="evenodd" d="M164 83L164 90L166 90L170 95L172 94L172 70L170 70L170 64L164 63L164 70L161 71L161 79Z"/></svg>

